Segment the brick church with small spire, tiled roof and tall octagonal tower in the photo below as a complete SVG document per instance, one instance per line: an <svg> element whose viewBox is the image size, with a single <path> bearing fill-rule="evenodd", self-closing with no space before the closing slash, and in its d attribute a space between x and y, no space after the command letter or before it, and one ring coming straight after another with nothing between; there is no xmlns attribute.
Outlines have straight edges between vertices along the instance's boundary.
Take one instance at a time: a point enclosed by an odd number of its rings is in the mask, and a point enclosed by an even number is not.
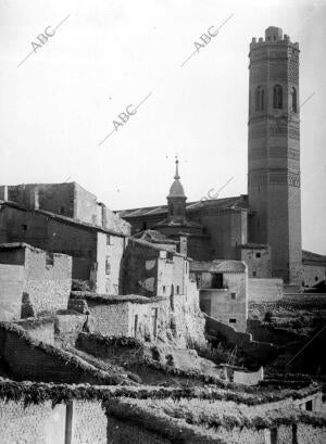
<svg viewBox="0 0 326 444"><path fill-rule="evenodd" d="M244 261L249 277L302 286L299 45L278 27L249 52L248 194L187 202L178 173L167 205L118 212L195 261Z"/></svg>

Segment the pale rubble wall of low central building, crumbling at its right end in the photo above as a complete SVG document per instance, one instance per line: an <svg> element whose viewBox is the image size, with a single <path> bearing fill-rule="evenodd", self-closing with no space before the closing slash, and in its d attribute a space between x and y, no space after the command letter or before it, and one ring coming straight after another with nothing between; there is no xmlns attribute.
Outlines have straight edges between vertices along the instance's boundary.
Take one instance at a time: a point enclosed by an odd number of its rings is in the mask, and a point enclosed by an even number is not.
<svg viewBox="0 0 326 444"><path fill-rule="evenodd" d="M187 283L187 294L130 301L89 299L89 329L104 337L136 337L146 341L173 342L185 347L189 342L204 343L204 318L199 308L198 290ZM135 296L137 297L137 296Z"/></svg>

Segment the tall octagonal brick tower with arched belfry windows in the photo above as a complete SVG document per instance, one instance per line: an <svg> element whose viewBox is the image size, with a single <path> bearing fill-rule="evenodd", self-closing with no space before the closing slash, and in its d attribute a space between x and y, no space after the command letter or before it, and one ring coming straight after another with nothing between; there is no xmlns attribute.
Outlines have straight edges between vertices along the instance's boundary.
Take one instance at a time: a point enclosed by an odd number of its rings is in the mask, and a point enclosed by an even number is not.
<svg viewBox="0 0 326 444"><path fill-rule="evenodd" d="M271 26L249 59L249 239L271 245L274 277L301 284L299 45Z"/></svg>

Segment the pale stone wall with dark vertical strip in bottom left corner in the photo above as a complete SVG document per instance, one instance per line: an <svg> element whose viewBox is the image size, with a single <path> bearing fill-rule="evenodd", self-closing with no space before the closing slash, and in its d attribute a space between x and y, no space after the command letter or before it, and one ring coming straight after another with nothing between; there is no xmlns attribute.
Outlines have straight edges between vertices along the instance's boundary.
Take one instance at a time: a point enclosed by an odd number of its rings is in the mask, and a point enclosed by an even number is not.
<svg viewBox="0 0 326 444"><path fill-rule="evenodd" d="M24 405L0 399L1 444L108 444L108 420L99 401L51 401Z"/></svg>

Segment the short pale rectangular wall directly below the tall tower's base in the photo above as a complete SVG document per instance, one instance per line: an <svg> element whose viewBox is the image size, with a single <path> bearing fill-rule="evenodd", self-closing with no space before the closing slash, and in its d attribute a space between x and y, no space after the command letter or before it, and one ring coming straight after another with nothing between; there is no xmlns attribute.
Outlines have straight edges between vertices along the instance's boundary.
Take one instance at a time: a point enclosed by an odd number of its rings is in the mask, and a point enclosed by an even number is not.
<svg viewBox="0 0 326 444"><path fill-rule="evenodd" d="M249 302L273 302L283 297L281 279L248 279Z"/></svg>

